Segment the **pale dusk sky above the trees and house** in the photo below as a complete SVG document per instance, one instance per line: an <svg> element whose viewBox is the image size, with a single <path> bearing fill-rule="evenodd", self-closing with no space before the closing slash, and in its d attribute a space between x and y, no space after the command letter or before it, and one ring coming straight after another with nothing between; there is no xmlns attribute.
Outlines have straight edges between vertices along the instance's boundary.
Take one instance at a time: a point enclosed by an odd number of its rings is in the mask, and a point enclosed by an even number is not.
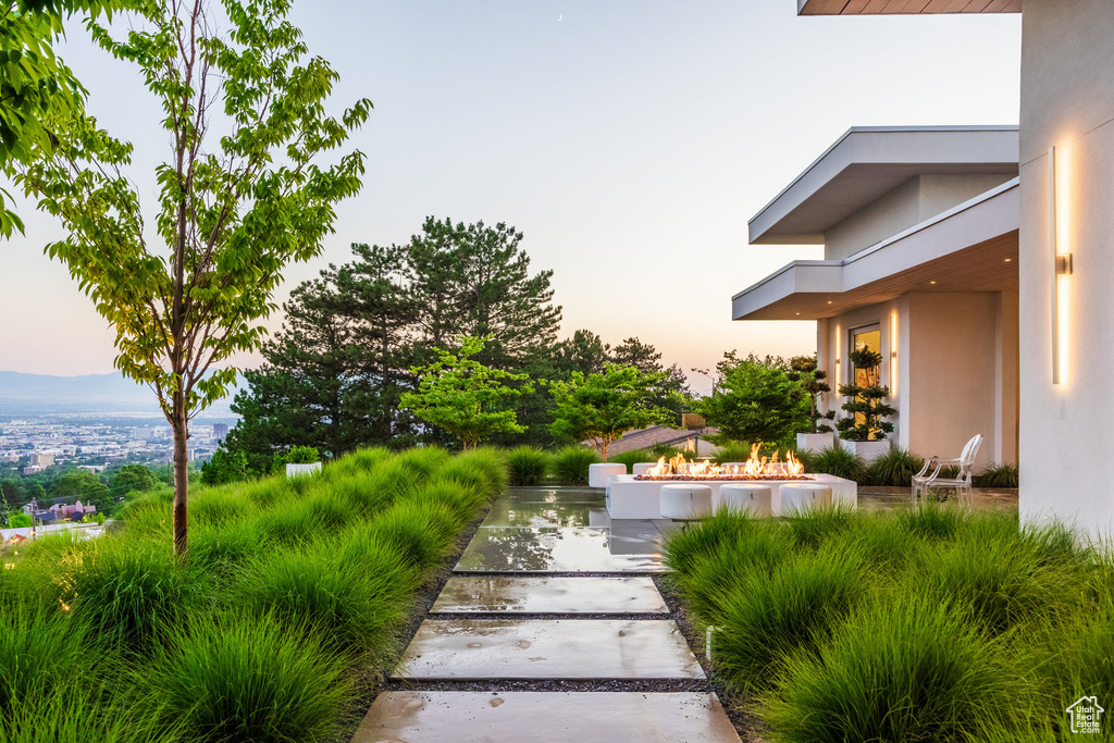
<svg viewBox="0 0 1114 743"><path fill-rule="evenodd" d="M811 322L732 322L731 296L818 246L749 246L746 221L854 125L1016 124L1020 14L798 18L795 0L302 0L294 22L341 75L335 110L375 110L362 193L280 301L353 242L401 243L426 216L506 222L554 270L563 335L636 335L666 363L814 349ZM558 21L558 18L561 20ZM72 23L89 109L136 145L155 205L169 155L133 68ZM6 187L10 184L4 184ZM57 223L20 204L0 244L0 370L111 371L114 334L42 254ZM277 327L281 317L272 317ZM258 363L257 356L238 360ZM706 392L707 381L693 378Z"/></svg>

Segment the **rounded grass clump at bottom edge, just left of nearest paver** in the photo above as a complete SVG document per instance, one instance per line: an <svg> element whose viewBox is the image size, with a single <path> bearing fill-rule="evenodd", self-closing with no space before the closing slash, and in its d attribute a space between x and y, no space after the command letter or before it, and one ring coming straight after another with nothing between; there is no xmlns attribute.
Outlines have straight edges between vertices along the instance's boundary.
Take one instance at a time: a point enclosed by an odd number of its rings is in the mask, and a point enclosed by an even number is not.
<svg viewBox="0 0 1114 743"><path fill-rule="evenodd" d="M343 659L270 616L195 618L150 673L163 720L189 741L317 741L352 698Z"/></svg>

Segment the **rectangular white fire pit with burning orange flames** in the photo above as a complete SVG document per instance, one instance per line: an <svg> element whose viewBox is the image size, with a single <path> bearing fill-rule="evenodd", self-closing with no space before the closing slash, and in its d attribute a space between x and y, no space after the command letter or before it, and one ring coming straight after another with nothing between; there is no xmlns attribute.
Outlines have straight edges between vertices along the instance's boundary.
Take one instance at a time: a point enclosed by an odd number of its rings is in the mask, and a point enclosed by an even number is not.
<svg viewBox="0 0 1114 743"><path fill-rule="evenodd" d="M712 488L712 505L720 507L720 488L739 482L762 482L770 486L772 510L782 514L781 487L790 483L827 485L832 489L832 502L856 506L858 487L851 480L831 475L804 475L804 468L792 452L780 461L773 457L759 457L758 447L751 449L745 462L714 465L711 461L686 462L681 457L657 465L643 475L613 475L607 478L607 512L613 519L659 519L661 489L671 482L700 482Z"/></svg>

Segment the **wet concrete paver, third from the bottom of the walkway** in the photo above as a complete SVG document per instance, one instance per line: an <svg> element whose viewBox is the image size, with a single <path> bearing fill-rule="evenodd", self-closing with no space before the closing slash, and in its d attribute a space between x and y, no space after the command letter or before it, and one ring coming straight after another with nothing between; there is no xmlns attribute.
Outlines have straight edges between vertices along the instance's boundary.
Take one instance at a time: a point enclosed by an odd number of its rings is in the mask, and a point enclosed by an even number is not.
<svg viewBox="0 0 1114 743"><path fill-rule="evenodd" d="M434 614L668 614L646 577L452 576Z"/></svg>

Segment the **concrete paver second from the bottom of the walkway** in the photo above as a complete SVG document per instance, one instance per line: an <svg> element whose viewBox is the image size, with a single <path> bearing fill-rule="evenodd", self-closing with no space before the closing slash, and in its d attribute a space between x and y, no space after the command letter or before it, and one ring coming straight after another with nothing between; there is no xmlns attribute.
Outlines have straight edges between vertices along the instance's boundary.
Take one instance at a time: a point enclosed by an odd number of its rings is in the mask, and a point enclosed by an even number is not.
<svg viewBox="0 0 1114 743"><path fill-rule="evenodd" d="M427 619L392 674L408 680L704 678L665 619Z"/></svg>

